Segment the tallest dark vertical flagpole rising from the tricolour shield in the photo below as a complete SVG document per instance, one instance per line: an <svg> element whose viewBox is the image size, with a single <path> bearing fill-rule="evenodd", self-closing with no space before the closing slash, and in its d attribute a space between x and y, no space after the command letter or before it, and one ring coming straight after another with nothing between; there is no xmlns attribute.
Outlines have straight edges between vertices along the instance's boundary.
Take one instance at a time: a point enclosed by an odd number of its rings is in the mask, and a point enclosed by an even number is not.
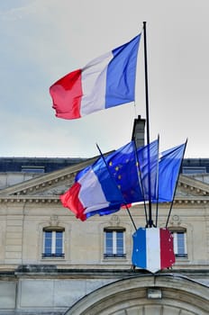
<svg viewBox="0 0 209 315"><path fill-rule="evenodd" d="M150 119L149 119L149 94L148 94L148 62L147 62L147 33L146 22L143 22L144 38L144 72L145 72L145 97L146 97L146 120L147 120L147 144L148 144L148 181L149 181L149 221L150 228L153 226L151 213L151 182L150 182Z"/></svg>

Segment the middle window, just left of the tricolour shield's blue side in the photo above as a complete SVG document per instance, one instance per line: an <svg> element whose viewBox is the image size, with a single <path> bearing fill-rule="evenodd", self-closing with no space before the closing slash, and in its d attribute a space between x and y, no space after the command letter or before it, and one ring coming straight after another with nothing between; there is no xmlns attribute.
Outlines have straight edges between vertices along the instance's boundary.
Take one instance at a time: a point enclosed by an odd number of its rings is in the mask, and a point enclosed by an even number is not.
<svg viewBox="0 0 209 315"><path fill-rule="evenodd" d="M104 258L125 257L124 229L104 229Z"/></svg>

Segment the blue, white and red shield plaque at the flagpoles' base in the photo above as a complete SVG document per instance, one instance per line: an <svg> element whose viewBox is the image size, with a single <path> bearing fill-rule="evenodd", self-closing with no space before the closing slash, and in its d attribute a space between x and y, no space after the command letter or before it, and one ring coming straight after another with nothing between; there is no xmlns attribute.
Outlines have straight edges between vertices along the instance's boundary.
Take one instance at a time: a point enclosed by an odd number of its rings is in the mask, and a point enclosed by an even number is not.
<svg viewBox="0 0 209 315"><path fill-rule="evenodd" d="M132 265L156 273L173 266L173 236L168 229L137 229L132 235Z"/></svg>

